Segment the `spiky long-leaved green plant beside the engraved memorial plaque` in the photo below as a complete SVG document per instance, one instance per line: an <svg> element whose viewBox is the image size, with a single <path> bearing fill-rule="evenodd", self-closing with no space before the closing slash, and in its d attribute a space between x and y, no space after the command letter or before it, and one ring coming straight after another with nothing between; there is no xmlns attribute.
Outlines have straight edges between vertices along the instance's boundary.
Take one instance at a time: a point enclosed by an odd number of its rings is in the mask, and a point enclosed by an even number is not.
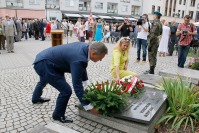
<svg viewBox="0 0 199 133"><path fill-rule="evenodd" d="M182 81L180 77L174 81L163 78L163 81L160 86L167 93L169 107L158 123L165 122L165 125L176 132L182 125L184 130L191 126L194 132L195 124L199 120L199 90L190 88L188 80Z"/></svg>

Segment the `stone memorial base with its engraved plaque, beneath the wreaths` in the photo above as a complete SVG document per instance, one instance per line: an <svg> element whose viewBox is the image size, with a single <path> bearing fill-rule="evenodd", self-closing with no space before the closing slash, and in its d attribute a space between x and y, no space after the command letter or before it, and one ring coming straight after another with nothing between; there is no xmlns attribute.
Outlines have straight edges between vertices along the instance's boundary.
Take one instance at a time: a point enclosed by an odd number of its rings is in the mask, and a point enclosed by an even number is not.
<svg viewBox="0 0 199 133"><path fill-rule="evenodd" d="M139 99L130 98L131 105L115 117L93 115L81 107L79 115L122 132L154 133L157 120L167 109L166 94L154 88L146 89Z"/></svg>

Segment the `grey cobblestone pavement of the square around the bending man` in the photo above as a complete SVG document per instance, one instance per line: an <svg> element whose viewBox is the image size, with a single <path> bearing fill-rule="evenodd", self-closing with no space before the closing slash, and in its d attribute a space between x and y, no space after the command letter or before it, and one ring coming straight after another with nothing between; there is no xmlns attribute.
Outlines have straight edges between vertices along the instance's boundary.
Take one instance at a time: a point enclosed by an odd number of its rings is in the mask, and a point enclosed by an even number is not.
<svg viewBox="0 0 199 133"><path fill-rule="evenodd" d="M69 42L76 41L76 38L69 38ZM66 39L64 39L66 43ZM111 51L114 44L106 44L109 53L105 59L98 63L89 62L88 75L90 81L102 81L110 79L110 60ZM78 100L73 93L70 98L66 115L73 118L74 123L62 124L51 118L55 107L58 91L47 85L43 96L50 97L51 101L44 104L33 105L31 96L34 87L38 81L38 76L33 70L32 62L35 55L51 46L50 41L21 41L15 43L15 53L8 54L1 51L0 54L0 133L25 133L37 125L47 125L55 122L67 126L82 133L118 133L119 131L101 125L93 121L82 118L78 115L78 109L75 107ZM130 50L129 70L138 74L148 69L149 64L135 63L136 49ZM165 68L176 67L177 57L158 57L158 64L155 73ZM71 85L71 76L66 74L66 80Z"/></svg>

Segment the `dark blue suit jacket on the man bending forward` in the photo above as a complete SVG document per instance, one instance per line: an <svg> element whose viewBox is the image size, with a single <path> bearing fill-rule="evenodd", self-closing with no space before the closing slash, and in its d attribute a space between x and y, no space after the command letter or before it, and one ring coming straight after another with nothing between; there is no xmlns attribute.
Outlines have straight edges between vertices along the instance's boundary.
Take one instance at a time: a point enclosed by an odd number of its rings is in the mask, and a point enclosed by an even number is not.
<svg viewBox="0 0 199 133"><path fill-rule="evenodd" d="M88 80L88 45L83 42L74 42L70 44L59 45L48 48L40 52L33 64L47 60L53 65L57 73L71 73L73 87L75 90L82 90L82 81ZM56 73L55 73L56 74Z"/></svg>

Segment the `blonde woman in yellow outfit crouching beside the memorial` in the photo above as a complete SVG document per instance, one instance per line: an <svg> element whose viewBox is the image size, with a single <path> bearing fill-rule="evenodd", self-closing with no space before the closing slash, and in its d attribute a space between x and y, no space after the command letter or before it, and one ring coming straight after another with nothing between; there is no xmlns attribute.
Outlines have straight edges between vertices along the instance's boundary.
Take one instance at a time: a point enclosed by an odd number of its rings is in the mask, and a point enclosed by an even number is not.
<svg viewBox="0 0 199 133"><path fill-rule="evenodd" d="M127 71L129 62L129 49L130 39L126 37L122 37L113 49L111 60L111 74L117 82L125 76L137 75L134 72Z"/></svg>

